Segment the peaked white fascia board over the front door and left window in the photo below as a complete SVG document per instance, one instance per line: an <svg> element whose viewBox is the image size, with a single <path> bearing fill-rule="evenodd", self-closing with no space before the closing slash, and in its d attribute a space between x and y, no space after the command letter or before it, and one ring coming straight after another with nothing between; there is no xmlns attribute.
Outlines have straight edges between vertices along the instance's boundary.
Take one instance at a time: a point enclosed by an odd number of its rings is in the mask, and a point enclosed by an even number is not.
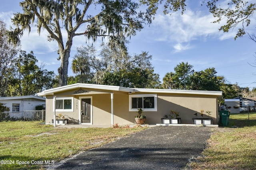
<svg viewBox="0 0 256 170"><path fill-rule="evenodd" d="M46 96L46 95L54 95L56 92L62 92L66 90L72 90L76 88L91 88L91 89L99 89L99 90L113 90L113 91L121 91L121 92L134 92L132 88L124 88L120 86L108 86L108 85L101 85L101 84L70 84L67 86L52 88L49 90L44 90L43 92L38 93L38 96Z"/></svg>

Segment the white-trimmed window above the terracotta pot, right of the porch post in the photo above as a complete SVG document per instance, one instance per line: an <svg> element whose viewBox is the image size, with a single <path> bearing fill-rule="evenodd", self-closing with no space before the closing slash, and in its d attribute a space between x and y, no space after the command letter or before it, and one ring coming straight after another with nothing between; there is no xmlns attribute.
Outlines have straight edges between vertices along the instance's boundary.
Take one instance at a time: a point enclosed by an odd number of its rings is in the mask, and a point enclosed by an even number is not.
<svg viewBox="0 0 256 170"><path fill-rule="evenodd" d="M134 94L129 95L129 111L138 111L139 108L144 111L157 111L156 94Z"/></svg>

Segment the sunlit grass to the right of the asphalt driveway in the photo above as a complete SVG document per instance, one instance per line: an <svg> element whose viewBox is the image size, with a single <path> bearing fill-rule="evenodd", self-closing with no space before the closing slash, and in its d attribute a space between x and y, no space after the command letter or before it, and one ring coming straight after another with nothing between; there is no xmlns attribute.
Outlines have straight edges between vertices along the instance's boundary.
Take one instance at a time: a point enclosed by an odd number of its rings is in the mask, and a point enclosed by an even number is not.
<svg viewBox="0 0 256 170"><path fill-rule="evenodd" d="M256 113L249 120L248 113L231 114L228 127L213 130L202 156L190 163L192 169L256 169Z"/></svg>

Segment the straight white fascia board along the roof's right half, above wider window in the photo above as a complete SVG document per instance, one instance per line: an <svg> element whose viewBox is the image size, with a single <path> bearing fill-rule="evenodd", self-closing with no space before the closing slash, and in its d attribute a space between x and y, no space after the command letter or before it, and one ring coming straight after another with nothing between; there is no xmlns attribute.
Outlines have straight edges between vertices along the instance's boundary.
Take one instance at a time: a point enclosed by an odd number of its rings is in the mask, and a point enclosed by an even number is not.
<svg viewBox="0 0 256 170"><path fill-rule="evenodd" d="M148 93L168 93L168 94L202 94L222 96L221 91L205 91L205 90L173 90L173 89L150 89L150 88L134 88L135 92L148 92Z"/></svg>

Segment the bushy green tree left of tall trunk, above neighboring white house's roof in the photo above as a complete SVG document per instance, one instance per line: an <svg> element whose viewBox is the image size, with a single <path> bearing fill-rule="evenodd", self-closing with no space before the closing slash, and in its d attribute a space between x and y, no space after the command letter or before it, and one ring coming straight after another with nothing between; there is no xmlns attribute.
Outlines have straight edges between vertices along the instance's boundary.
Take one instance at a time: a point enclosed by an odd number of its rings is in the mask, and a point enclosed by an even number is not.
<svg viewBox="0 0 256 170"><path fill-rule="evenodd" d="M20 51L19 57L14 61L9 96L35 95L42 90L52 88L54 72L44 69L44 65L36 65L37 62L32 51L28 54L26 51Z"/></svg>

